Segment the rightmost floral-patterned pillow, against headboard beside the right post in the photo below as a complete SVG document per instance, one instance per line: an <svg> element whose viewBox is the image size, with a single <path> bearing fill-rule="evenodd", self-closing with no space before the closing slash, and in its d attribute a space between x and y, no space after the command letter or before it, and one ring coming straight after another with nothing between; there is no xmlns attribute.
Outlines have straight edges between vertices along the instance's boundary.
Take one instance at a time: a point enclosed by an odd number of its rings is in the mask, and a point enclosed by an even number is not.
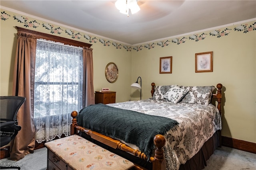
<svg viewBox="0 0 256 170"><path fill-rule="evenodd" d="M188 94L186 94L181 102L202 105L210 103L214 90L214 86L181 86L181 88L189 89Z"/></svg>

